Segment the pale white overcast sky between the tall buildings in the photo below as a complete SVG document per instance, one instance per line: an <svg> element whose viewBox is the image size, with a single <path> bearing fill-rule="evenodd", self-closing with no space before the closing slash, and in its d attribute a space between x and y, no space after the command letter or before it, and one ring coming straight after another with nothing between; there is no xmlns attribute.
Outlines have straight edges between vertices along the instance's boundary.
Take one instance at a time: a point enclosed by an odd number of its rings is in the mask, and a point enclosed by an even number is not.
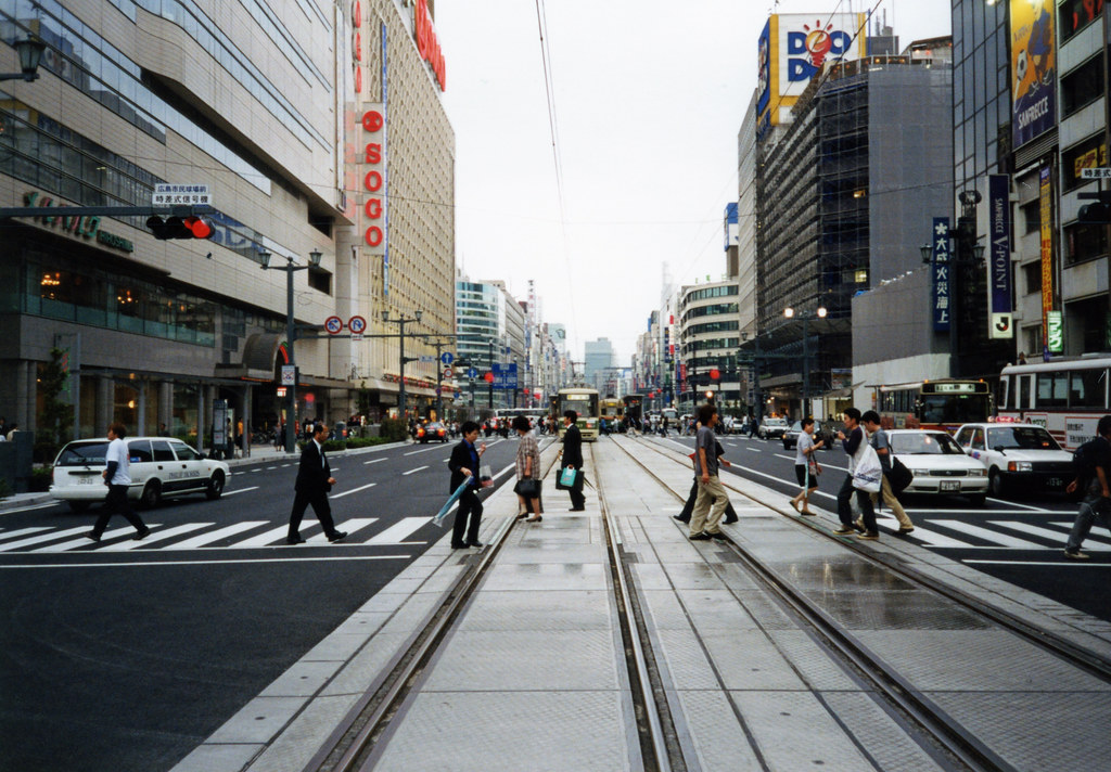
<svg viewBox="0 0 1111 772"><path fill-rule="evenodd" d="M457 264L472 281L504 281L518 300L533 280L541 321L567 325L573 360L585 341L604 337L628 365L661 307L665 270L675 285L722 278L737 136L769 14L887 11L905 47L950 34L950 0L438 0L443 103L456 132Z"/></svg>

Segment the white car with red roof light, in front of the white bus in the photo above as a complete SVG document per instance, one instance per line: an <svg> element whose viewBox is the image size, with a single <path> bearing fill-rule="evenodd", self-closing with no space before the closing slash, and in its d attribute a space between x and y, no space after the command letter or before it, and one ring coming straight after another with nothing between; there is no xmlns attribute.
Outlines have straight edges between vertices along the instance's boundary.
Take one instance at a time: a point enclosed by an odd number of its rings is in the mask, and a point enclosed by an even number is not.
<svg viewBox="0 0 1111 772"><path fill-rule="evenodd" d="M1033 423L965 423L954 435L965 453L988 470L994 497L1023 490L1063 493L1073 478L1072 453Z"/></svg>

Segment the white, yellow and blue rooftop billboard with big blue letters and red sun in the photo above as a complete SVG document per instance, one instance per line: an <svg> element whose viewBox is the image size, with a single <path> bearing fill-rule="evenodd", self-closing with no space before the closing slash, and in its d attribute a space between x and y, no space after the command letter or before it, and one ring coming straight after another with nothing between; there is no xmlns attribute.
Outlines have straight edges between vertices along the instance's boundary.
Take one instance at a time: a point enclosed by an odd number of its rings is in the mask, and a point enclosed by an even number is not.
<svg viewBox="0 0 1111 772"><path fill-rule="evenodd" d="M757 112L761 126L790 121L791 107L831 61L868 54L864 13L774 13L758 40Z"/></svg>

